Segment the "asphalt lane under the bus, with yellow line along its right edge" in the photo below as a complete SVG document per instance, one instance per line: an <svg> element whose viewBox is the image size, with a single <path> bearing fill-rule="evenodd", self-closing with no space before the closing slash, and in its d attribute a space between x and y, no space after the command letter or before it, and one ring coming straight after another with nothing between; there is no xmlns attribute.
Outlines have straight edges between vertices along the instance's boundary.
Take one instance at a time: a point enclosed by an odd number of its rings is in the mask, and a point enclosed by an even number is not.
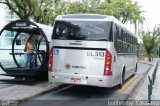
<svg viewBox="0 0 160 106"><path fill-rule="evenodd" d="M115 105L116 101L124 101L137 86L150 65L139 63L135 76L129 78L122 89L98 88L87 86L68 86L58 91L24 101L20 106L107 106ZM112 102L112 100L114 100Z"/></svg>

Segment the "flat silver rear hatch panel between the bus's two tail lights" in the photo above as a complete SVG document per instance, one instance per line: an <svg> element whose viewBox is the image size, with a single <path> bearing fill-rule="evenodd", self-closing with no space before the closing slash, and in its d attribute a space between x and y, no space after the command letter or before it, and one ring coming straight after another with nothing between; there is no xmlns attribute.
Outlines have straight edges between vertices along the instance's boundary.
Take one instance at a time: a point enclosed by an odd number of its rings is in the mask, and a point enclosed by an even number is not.
<svg viewBox="0 0 160 106"><path fill-rule="evenodd" d="M105 51L54 48L54 72L103 75ZM100 56L101 55L101 56Z"/></svg>

